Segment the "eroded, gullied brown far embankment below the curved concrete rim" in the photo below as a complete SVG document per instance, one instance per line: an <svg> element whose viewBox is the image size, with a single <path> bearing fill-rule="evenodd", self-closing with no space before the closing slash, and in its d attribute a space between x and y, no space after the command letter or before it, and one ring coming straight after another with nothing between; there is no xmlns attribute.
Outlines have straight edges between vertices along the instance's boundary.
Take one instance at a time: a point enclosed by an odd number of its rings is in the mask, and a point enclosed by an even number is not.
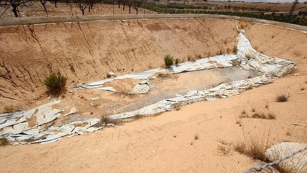
<svg viewBox="0 0 307 173"><path fill-rule="evenodd" d="M68 86L74 86L101 80L108 71L119 75L161 66L165 54L232 53L238 24L199 18L0 28L0 110L10 104L29 108L33 100L46 97L42 81L51 71L67 75ZM260 51L306 64L304 33L261 24L245 27Z"/></svg>

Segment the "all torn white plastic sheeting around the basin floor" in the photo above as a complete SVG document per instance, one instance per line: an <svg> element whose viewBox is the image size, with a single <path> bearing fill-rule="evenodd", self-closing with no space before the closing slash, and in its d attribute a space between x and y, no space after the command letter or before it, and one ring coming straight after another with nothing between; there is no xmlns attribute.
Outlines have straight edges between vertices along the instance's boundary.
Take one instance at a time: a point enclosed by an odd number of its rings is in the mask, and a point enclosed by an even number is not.
<svg viewBox="0 0 307 173"><path fill-rule="evenodd" d="M178 97L175 98L165 99L136 111L110 115L110 118L118 119L132 117L135 115L156 114L171 110L175 105L184 105L200 100L211 101L240 94L242 91L250 87L261 85L277 79L277 77L288 73L294 66L294 63L291 61L280 58L272 58L257 52L255 49L253 49L249 40L244 36L243 31L238 31L239 37L237 55L220 55L211 58L198 59L196 61L172 65L168 68L156 68L145 72L117 76L115 78L108 78L84 85L78 85L76 87L96 88L116 92L113 87L102 87L103 84L115 79L132 78L142 80L132 89L132 93L141 94L149 91L148 79L153 78L155 73L180 73L184 71L195 71L208 68L230 67L232 66L232 60L234 59L241 61L241 66L243 68L257 70L263 74L251 79L223 83L214 88L205 89L202 91L188 91L187 94L183 96L178 95ZM96 99L97 98L93 98L93 100ZM29 143L46 144L57 141L63 136L71 137L77 134L92 132L102 128L93 127L93 125L97 124L100 120L97 118L91 118L84 121L64 124L60 127L51 126L47 129L41 129L41 125L51 122L58 117L76 113L75 107L72 106L70 107L70 112L68 114L62 115L61 112L63 112L63 110L52 108L53 105L59 103L60 101L55 100L51 103L31 110L10 114L0 114L0 136L7 137L7 139L14 145ZM35 122L33 122L34 120Z"/></svg>

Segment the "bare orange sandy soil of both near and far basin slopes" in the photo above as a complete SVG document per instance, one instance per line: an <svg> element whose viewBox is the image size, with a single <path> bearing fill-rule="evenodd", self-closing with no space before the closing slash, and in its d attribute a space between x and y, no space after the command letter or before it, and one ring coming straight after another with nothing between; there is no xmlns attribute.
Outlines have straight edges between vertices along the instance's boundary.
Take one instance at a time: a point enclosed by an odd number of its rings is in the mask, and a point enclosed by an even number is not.
<svg viewBox="0 0 307 173"><path fill-rule="evenodd" d="M0 28L0 41L4 43L0 44L1 105L20 104L27 97L31 100L39 96L44 91L40 82L51 70L67 75L73 86L101 79L109 70L118 69L116 73L123 74L132 68L135 72L161 66L166 53L185 57L212 56L220 48L226 52L236 44L234 28L238 23L220 19L159 19L115 22L115 26L113 22L91 22L72 27L57 24L17 30ZM307 123L307 36L261 24L245 29L256 49L295 62L293 73L299 75L287 75L227 99L194 103L180 111L64 137L47 145L1 147L0 172L234 173L259 163L233 149L230 155L223 156L217 147L233 148L244 134L264 135L270 131L273 143L307 143L306 127L292 125ZM280 93L285 93L289 101L277 103ZM43 98L26 105L41 104L46 101ZM240 118L242 110L251 115L252 108L259 113L272 112L276 119ZM241 123L237 124L237 120ZM196 134L198 140L194 140Z"/></svg>

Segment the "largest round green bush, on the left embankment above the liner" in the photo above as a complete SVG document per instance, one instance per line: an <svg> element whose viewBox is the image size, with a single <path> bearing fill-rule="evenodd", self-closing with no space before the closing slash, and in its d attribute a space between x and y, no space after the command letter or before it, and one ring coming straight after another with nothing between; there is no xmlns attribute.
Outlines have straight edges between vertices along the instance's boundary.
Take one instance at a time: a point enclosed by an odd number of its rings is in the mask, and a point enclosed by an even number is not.
<svg viewBox="0 0 307 173"><path fill-rule="evenodd" d="M45 77L44 85L48 89L48 94L58 96L65 91L65 86L67 83L67 77L61 75L60 73L51 73Z"/></svg>

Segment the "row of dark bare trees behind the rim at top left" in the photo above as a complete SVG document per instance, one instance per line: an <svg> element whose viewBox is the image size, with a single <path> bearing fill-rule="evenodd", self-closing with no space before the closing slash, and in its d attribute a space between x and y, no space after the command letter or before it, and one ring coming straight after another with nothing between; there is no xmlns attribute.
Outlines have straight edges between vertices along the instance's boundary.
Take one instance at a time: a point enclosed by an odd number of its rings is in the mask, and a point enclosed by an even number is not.
<svg viewBox="0 0 307 173"><path fill-rule="evenodd" d="M9 7L11 7L11 10L13 11L15 17L19 17L20 13L18 10L18 6L20 5L30 6L33 4L34 1L35 0L0 0L0 6L4 7L5 11ZM38 1L44 7L44 10L47 16L48 16L47 7L46 7L47 1L53 2L55 8L57 7L56 3L58 2L58 0L38 0ZM139 8L144 4L144 0L114 0L113 2L118 3L119 8L120 8L120 4L122 4L123 10L125 10L125 6L129 6L129 13L131 13L131 7L133 7L136 10L137 14L138 14ZM80 11L82 12L82 15L84 15L85 10L88 8L89 12L91 12L91 9L93 9L94 4L98 3L98 1L97 0L66 0L66 3L70 4L71 13L72 13L72 4L73 4L73 6L80 9ZM4 14L4 12L1 14L1 16Z"/></svg>

